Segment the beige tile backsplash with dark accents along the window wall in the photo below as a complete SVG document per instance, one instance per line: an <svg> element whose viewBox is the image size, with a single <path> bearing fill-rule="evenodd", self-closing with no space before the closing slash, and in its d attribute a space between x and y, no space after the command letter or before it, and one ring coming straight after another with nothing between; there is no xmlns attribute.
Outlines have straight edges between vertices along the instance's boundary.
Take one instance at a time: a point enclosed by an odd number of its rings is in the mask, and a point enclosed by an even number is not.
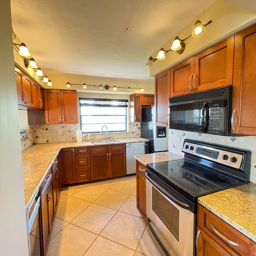
<svg viewBox="0 0 256 256"><path fill-rule="evenodd" d="M59 134L61 130L61 134ZM76 141L76 131L80 130L80 124L43 124L32 125L32 136L35 144L52 142L72 142ZM140 137L140 122L128 124L128 132L109 132L111 139ZM106 138L105 130L103 134L90 134L91 140L102 140ZM87 140L87 134L86 134Z"/></svg>

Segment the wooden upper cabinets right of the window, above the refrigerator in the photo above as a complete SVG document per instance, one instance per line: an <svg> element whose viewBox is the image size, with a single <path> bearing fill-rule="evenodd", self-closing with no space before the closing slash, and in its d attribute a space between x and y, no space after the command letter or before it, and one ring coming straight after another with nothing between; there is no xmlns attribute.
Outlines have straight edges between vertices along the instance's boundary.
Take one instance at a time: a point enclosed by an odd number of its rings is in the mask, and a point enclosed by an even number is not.
<svg viewBox="0 0 256 256"><path fill-rule="evenodd" d="M154 94L130 95L130 122L141 122L142 106L154 105Z"/></svg>

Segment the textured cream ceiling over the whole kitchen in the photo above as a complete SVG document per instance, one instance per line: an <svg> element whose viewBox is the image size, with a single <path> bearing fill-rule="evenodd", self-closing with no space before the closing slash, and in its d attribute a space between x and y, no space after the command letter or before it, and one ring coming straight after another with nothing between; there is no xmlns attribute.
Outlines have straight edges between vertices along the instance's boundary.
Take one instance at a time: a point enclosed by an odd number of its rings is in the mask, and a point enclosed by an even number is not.
<svg viewBox="0 0 256 256"><path fill-rule="evenodd" d="M44 73L152 80L152 52L215 0L10 2L13 30Z"/></svg>

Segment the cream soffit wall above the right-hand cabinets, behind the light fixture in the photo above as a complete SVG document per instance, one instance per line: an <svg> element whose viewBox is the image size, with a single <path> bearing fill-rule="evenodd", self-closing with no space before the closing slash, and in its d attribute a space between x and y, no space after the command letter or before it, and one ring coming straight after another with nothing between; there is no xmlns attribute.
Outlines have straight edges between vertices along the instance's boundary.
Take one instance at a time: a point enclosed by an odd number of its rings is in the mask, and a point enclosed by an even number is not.
<svg viewBox="0 0 256 256"><path fill-rule="evenodd" d="M150 76L156 76L160 72L190 58L217 42L228 38L250 24L255 23L256 13L239 8L223 0L217 0L212 4L212 6L202 12L202 14L195 17L194 20L192 20L192 22L190 22L180 32L175 35L170 35L170 40L161 47L168 50L172 46L175 36L179 36L180 39L184 39L190 35L194 29L196 20L201 20L204 24L209 20L212 20L212 24L206 27L206 32L202 36L188 38L188 40L185 41L186 48L182 54L177 54L176 52L171 51L165 54L165 60L155 61L153 66L150 67ZM156 58L160 48L152 53L153 58Z"/></svg>

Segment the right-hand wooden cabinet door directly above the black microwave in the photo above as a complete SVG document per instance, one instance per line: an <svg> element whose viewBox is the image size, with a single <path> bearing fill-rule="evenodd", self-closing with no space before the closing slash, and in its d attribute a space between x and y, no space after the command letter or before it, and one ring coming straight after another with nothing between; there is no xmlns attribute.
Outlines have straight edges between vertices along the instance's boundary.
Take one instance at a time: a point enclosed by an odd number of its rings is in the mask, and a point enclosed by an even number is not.
<svg viewBox="0 0 256 256"><path fill-rule="evenodd" d="M194 92L231 85L234 36L194 56Z"/></svg>

